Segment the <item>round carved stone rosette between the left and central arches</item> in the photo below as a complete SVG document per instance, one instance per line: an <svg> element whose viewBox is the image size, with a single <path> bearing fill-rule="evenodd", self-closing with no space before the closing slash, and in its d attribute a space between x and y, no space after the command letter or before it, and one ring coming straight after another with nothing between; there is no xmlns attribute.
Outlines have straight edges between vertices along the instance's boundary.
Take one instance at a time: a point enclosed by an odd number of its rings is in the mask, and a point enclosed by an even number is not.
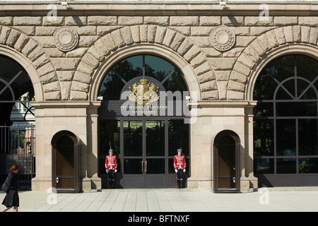
<svg viewBox="0 0 318 226"><path fill-rule="evenodd" d="M57 49L61 51L70 51L78 43L78 34L70 27L61 27L54 32L54 42Z"/></svg>

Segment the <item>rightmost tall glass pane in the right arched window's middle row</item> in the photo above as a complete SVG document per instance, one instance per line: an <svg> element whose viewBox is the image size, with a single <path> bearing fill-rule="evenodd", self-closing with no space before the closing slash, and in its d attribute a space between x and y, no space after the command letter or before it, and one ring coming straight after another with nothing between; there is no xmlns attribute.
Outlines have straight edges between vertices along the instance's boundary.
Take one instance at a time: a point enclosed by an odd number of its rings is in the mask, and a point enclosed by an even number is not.
<svg viewBox="0 0 318 226"><path fill-rule="evenodd" d="M318 155L317 119L298 119L299 155Z"/></svg>

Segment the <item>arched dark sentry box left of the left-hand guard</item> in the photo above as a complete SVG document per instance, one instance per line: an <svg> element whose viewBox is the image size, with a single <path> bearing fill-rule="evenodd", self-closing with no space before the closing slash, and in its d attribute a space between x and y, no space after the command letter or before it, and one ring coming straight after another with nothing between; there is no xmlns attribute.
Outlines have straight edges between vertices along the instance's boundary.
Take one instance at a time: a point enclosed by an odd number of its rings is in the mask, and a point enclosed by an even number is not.
<svg viewBox="0 0 318 226"><path fill-rule="evenodd" d="M70 131L59 131L52 138L52 187L57 192L78 192L79 139Z"/></svg>

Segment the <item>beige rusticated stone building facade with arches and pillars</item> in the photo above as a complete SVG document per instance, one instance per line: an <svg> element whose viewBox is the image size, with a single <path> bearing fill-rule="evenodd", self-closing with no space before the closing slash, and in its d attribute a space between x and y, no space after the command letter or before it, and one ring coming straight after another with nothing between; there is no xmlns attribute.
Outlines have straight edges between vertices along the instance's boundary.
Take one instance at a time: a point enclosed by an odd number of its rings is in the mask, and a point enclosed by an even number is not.
<svg viewBox="0 0 318 226"><path fill-rule="evenodd" d="M240 191L257 188L253 165L253 99L259 73L285 54L318 59L316 1L60 2L0 4L0 54L17 61L35 90L36 177L52 186L52 138L78 137L81 189L101 189L98 175L98 92L107 71L136 54L162 57L182 72L196 111L190 124L187 187L215 188L215 138L240 140ZM266 2L265 2L266 3ZM264 16L268 16L264 18ZM238 178L237 178L238 180Z"/></svg>

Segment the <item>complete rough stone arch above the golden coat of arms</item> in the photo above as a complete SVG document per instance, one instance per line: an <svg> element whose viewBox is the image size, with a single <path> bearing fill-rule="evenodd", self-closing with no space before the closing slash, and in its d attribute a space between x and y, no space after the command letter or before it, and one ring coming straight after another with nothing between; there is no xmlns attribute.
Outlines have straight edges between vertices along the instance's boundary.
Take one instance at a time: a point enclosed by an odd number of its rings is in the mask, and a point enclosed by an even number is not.
<svg viewBox="0 0 318 226"><path fill-rule="evenodd" d="M70 99L95 100L110 65L137 52L171 57L184 73L190 92L199 91L198 99L218 99L216 76L201 49L179 32L158 25L127 26L97 40L78 64Z"/></svg>

